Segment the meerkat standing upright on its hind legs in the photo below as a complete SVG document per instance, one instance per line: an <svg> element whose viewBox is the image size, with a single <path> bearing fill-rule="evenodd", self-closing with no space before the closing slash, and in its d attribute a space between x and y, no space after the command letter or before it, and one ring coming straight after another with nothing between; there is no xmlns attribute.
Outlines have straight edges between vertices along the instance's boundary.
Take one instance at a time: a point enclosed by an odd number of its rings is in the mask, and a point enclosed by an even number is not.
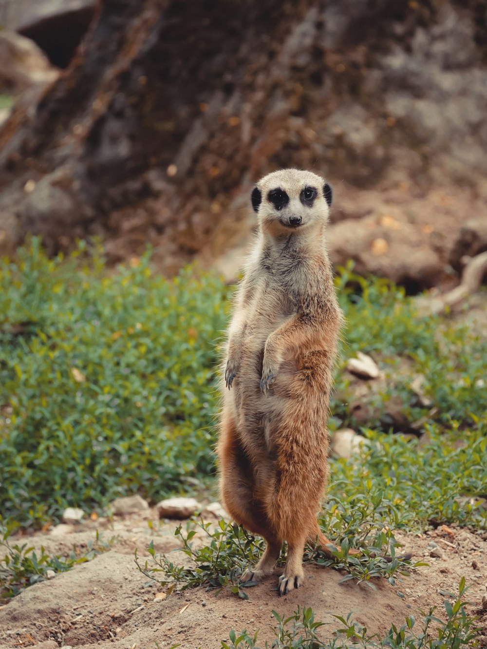
<svg viewBox="0 0 487 649"><path fill-rule="evenodd" d="M342 324L326 250L332 190L309 171L283 169L252 191L259 229L235 295L222 366L217 447L228 513L267 542L241 580L287 561L278 593L302 585L327 478L327 415Z"/></svg>

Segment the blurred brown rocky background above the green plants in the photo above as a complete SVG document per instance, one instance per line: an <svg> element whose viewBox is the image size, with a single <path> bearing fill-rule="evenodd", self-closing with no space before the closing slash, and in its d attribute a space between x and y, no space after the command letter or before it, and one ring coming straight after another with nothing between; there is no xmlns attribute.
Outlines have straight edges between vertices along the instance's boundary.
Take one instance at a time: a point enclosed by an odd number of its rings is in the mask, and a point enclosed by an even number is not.
<svg viewBox="0 0 487 649"><path fill-rule="evenodd" d="M455 282L487 250L484 0L0 0L0 249L147 243L231 279L279 167L335 191L336 265Z"/></svg>

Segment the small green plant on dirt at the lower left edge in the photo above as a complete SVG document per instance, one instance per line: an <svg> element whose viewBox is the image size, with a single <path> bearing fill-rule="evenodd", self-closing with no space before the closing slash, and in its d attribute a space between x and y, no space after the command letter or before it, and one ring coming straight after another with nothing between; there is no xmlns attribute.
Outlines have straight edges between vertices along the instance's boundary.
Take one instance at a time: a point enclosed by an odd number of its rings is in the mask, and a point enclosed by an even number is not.
<svg viewBox="0 0 487 649"><path fill-rule="evenodd" d="M88 548L82 554L73 546L68 556L49 555L43 546L40 553L37 553L28 543L11 545L8 541L10 533L11 529L3 526L0 516L0 552L6 552L3 559L0 558L0 601L14 597L33 583L43 582L49 577L49 570L54 573L67 572L78 563L89 561L110 549L110 543L102 541L97 532L95 539L88 541Z"/></svg>

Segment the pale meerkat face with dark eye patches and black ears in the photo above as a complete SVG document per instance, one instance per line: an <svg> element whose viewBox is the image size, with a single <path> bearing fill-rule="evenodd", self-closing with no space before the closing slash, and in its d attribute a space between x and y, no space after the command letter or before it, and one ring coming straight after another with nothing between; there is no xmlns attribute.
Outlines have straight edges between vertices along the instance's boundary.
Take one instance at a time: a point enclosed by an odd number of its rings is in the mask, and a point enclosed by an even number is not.
<svg viewBox="0 0 487 649"><path fill-rule="evenodd" d="M315 173L282 169L257 182L251 201L262 227L289 234L326 223L331 197L331 187Z"/></svg>

